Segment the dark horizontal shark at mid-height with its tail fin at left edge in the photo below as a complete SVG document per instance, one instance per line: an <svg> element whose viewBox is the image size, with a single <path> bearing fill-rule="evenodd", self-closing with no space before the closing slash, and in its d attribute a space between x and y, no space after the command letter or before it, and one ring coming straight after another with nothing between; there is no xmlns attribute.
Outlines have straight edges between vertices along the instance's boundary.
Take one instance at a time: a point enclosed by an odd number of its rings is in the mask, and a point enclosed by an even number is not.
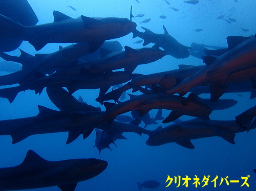
<svg viewBox="0 0 256 191"><path fill-rule="evenodd" d="M81 68L78 76L44 76L37 73L35 73L35 76L33 81L15 87L0 89L0 97L7 98L11 103L20 91L30 89L40 94L45 87L67 87L71 94L78 89L99 88L99 96L101 97L112 85L127 82L133 77L137 77L137 74L131 74L126 71L91 74L88 70Z"/></svg>

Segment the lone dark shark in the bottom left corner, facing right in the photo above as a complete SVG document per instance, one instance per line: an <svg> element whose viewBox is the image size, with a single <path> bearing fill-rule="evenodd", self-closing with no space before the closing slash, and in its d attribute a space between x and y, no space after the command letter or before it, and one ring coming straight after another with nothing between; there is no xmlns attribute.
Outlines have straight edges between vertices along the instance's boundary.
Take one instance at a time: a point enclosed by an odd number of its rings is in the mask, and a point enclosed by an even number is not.
<svg viewBox="0 0 256 191"><path fill-rule="evenodd" d="M94 158L49 161L29 150L23 163L0 169L0 190L58 186L73 191L77 182L99 175L106 166L108 162Z"/></svg>

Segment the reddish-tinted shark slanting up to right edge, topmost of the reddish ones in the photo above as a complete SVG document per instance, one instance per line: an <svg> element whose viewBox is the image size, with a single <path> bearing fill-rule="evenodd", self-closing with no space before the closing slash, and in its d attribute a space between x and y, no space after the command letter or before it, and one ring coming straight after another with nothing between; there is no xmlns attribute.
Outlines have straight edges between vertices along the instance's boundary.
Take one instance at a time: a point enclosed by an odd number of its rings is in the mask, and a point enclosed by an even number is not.
<svg viewBox="0 0 256 191"><path fill-rule="evenodd" d="M212 63L208 63L195 75L185 78L179 85L167 90L167 93L179 93L184 95L192 87L212 84L212 101L217 100L227 88L228 81L236 81L238 78L250 78L255 75L256 67L256 39L250 38L239 45L233 47ZM252 76L250 76L250 75ZM242 77L240 77L242 75ZM241 80L241 79L240 79Z"/></svg>

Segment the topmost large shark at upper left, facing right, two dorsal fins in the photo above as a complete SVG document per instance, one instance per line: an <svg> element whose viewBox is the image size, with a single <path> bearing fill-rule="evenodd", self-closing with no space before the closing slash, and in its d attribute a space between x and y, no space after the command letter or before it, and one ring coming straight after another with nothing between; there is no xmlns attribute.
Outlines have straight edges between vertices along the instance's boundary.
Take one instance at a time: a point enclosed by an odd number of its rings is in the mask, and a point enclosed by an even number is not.
<svg viewBox="0 0 256 191"><path fill-rule="evenodd" d="M0 37L28 40L38 51L47 43L53 42L103 43L105 40L125 36L136 28L136 23L126 18L90 18L81 15L74 19L58 11L54 11L53 16L53 23L26 26L22 30L15 26L8 27L8 30L16 31L16 35L5 34Z"/></svg>

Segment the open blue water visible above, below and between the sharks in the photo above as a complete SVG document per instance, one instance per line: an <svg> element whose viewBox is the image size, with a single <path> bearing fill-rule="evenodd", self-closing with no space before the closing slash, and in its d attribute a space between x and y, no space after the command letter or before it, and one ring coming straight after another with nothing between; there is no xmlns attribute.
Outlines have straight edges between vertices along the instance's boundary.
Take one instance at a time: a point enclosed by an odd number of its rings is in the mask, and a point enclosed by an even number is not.
<svg viewBox="0 0 256 191"><path fill-rule="evenodd" d="M56 1L56 0L37 0L28 1L38 17L38 24L53 21L53 10L60 11L73 18L80 15L88 17L122 17L129 18L130 7L133 5L133 14L145 14L142 18L135 18L137 30L143 31L143 26L154 33L163 33L164 25L170 35L180 43L190 46L192 42L204 43L209 45L227 46L227 36L250 36L256 32L256 1L247 0L234 2L234 0L201 0L196 5L186 4L183 1L169 0L167 5L164 0L135 0L126 1ZM77 11L68 8L73 6ZM174 11L170 7L175 7L179 11ZM227 23L225 20L216 19L219 15L225 15L225 18L236 18L236 22ZM165 15L167 18L159 18ZM150 22L141 23L140 21L151 18ZM244 32L241 28L249 29ZM193 32L196 29L203 29L201 32ZM133 44L139 40L132 38L132 33L117 39L122 46L131 46L134 49L142 47L142 44ZM29 54L52 53L58 50L60 44L47 44L42 50L36 52L34 47L28 42L23 42L20 49ZM62 46L70 45L61 44ZM151 47L153 44L148 44ZM8 53L19 56L19 51ZM2 61L2 59L0 60ZM165 56L161 60L147 65L138 66L134 73L152 74L159 71L165 71L178 68L179 64L201 65L202 60L189 56L186 59L175 59L172 56ZM95 101L99 90L78 90L73 96L81 96L84 101L95 107L104 108ZM127 91L131 93L131 91ZM210 114L211 120L234 120L234 117L255 105L255 99L250 100L250 93L226 93L222 99L234 99L238 101L235 106L213 111ZM203 95L209 98L209 94ZM128 98L126 98L128 99ZM0 120L10 120L14 118L35 116L38 114L37 105L42 105L51 109L58 110L49 100L46 91L35 94L34 91L27 90L20 92L14 102L10 104L7 99L0 99ZM154 116L155 110L151 115ZM168 112L164 111L163 116ZM182 116L181 120L190 120L193 117ZM158 126L166 127L170 124L147 126L147 129L153 130ZM145 145L147 135L143 137L135 133L123 134L128 140L117 140L116 148L113 144L110 146L113 151L108 149L101 151L102 160L108 161L109 165L100 175L83 182L79 182L75 190L138 190L136 182L146 180L157 180L160 186L155 190L256 190L256 175L253 169L256 168L256 144L255 130L237 133L235 137L236 145L232 145L221 137L209 137L195 139L191 142L195 149L186 149L175 143L166 144L158 147ZM99 158L99 153L95 145L95 131L87 138L82 139L79 136L74 142L66 145L68 133L52 133L44 135L33 135L17 144L12 145L11 136L0 137L0 168L15 166L24 160L28 150L34 150L42 158L51 161L75 159L75 158ZM170 177L189 176L192 180L188 187L184 185L176 188L177 184L172 183L165 187L167 175ZM197 175L200 180L203 176L210 175L207 186L195 188L192 184L193 178ZM216 175L217 187L210 182ZM243 183L241 176L250 175L247 183L249 187L240 187ZM219 185L220 179L228 176L228 180L240 180L239 183L230 183L228 186L225 181ZM182 181L183 183L183 181ZM59 190L57 186L40 188L36 190ZM146 190L146 188L142 188Z"/></svg>

